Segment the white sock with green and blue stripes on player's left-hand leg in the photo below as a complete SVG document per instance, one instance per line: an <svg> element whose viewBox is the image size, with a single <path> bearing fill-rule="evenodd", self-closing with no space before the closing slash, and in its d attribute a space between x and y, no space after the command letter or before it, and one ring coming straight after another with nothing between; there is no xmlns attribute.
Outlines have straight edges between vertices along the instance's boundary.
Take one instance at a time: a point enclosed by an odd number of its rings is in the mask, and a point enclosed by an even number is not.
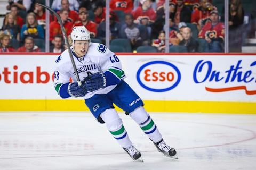
<svg viewBox="0 0 256 170"><path fill-rule="evenodd" d="M117 140L119 145L123 148L128 148L132 145L123 122L115 109L107 109L100 114L100 117L106 123L109 132Z"/></svg>

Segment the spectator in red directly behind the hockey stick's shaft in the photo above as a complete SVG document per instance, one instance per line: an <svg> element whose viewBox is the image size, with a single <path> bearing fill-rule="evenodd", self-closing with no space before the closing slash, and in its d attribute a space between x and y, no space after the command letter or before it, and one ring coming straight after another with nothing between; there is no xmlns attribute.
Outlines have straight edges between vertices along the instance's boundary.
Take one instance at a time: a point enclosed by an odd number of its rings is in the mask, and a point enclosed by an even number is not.
<svg viewBox="0 0 256 170"><path fill-rule="evenodd" d="M61 9L59 14L66 30L67 36L69 36L72 31L73 23L68 21L68 11L65 9ZM53 37L57 34L62 35L62 31L59 22L57 20L54 20L50 23L50 41L52 41Z"/></svg>

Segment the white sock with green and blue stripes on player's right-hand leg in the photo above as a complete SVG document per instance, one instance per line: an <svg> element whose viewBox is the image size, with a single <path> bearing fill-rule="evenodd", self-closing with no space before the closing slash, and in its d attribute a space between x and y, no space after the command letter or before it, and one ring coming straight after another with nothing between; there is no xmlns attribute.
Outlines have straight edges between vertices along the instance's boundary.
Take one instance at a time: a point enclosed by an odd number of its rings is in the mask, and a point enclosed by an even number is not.
<svg viewBox="0 0 256 170"><path fill-rule="evenodd" d="M153 142L159 142L162 139L161 133L158 131L156 124L151 119L144 107L139 107L129 114L131 118L140 125L140 128L146 133Z"/></svg>

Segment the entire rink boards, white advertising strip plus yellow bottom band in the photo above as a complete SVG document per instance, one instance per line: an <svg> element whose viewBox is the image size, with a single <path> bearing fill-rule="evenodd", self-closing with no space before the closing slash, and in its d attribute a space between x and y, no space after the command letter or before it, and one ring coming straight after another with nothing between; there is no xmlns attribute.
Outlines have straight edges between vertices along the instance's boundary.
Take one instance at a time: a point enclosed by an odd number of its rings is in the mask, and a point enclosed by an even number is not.
<svg viewBox="0 0 256 170"><path fill-rule="evenodd" d="M82 98L60 99L54 90L57 57L0 54L0 111L88 111ZM143 99L148 111L256 113L254 54L118 57L125 81Z"/></svg>

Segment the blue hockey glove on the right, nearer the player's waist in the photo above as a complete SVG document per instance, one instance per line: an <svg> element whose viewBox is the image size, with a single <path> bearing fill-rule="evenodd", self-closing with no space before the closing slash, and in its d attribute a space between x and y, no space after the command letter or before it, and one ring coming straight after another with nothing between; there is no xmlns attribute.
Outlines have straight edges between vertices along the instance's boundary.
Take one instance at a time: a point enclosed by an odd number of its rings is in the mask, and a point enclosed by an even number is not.
<svg viewBox="0 0 256 170"><path fill-rule="evenodd" d="M92 92L100 88L105 88L106 82L106 77L103 73L96 73L90 75L89 79L85 80L87 92Z"/></svg>

